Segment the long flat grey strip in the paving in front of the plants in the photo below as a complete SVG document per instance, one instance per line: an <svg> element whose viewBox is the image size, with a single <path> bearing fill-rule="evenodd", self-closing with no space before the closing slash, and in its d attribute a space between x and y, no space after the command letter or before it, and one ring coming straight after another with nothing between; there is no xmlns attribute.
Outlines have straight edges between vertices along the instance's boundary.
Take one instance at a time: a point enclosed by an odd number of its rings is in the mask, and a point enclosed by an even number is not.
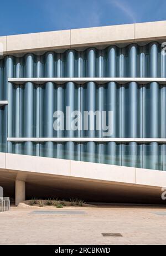
<svg viewBox="0 0 166 256"><path fill-rule="evenodd" d="M84 215L84 211L33 211L30 214L39 215Z"/></svg>

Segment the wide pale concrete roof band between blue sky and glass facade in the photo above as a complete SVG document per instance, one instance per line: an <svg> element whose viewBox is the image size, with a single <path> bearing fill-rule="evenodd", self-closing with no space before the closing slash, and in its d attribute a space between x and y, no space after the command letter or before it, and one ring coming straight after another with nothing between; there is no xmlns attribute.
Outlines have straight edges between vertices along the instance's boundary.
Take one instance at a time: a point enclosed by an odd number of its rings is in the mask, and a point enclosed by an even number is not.
<svg viewBox="0 0 166 256"><path fill-rule="evenodd" d="M166 38L166 21L69 29L0 37L4 54L106 46Z"/></svg>

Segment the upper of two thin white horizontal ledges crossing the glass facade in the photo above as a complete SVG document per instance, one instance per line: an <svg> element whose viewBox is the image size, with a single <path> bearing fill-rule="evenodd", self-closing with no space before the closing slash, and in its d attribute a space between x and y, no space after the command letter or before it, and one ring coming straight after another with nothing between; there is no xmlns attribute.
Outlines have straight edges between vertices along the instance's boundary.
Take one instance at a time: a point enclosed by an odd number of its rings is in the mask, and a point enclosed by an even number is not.
<svg viewBox="0 0 166 256"><path fill-rule="evenodd" d="M8 81L15 84L24 84L27 82L35 84L44 84L49 81L58 84L64 84L69 81L72 81L77 84L84 84L90 81L94 81L97 84L105 84L111 81L120 84L126 84L132 81L135 81L139 84L147 84L150 82L166 84L166 78L8 78Z"/></svg>

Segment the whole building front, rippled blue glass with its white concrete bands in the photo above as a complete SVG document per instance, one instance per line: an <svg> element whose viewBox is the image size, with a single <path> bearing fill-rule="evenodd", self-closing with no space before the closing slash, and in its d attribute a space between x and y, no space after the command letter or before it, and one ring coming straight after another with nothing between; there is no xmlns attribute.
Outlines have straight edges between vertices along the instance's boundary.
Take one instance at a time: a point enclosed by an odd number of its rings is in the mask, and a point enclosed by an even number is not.
<svg viewBox="0 0 166 256"><path fill-rule="evenodd" d="M35 174L37 162L47 161L49 168L50 158L55 158L50 175L61 176L56 163L69 161L77 179L98 180L98 192L103 181L112 182L110 186L149 186L152 191L159 191L164 182L166 186L165 27L166 22L152 22L0 37L2 171L17 173L16 183L25 183L25 173ZM79 115L72 116L74 111ZM25 168L8 168L8 157L18 165L20 159L33 159L34 170L27 163ZM118 170L118 177L111 178ZM143 183L137 184L136 172ZM17 178L20 173L25 178ZM71 169L69 173L63 175L74 177ZM131 202L129 195L126 202Z"/></svg>

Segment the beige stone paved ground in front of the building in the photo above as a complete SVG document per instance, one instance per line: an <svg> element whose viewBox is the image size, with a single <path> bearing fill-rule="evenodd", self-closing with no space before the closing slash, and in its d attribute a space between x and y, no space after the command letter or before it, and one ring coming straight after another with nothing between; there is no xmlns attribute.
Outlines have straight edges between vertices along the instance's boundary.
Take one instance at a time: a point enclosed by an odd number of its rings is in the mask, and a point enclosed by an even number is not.
<svg viewBox="0 0 166 256"><path fill-rule="evenodd" d="M79 209L84 215L66 216L33 211L11 207L1 212L0 244L166 244L166 215L153 213L166 213L164 207L102 206ZM102 237L101 233L123 237Z"/></svg>

